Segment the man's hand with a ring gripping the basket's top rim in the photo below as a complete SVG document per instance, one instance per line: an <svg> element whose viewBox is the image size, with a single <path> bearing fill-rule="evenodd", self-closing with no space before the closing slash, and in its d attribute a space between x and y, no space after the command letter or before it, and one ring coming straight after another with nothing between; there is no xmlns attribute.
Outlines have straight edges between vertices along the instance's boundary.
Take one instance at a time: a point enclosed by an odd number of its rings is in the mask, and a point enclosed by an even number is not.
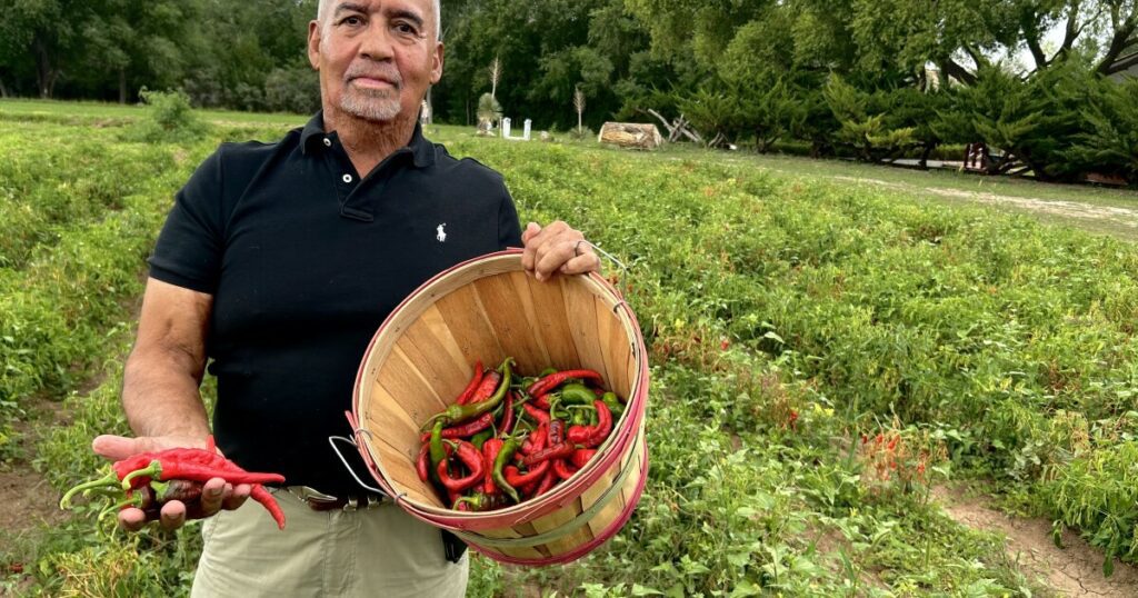
<svg viewBox="0 0 1138 598"><path fill-rule="evenodd" d="M521 234L521 241L526 246L521 265L538 280L546 280L554 272L580 275L601 270L601 259L585 243L585 236L560 220L545 228L530 222Z"/></svg>

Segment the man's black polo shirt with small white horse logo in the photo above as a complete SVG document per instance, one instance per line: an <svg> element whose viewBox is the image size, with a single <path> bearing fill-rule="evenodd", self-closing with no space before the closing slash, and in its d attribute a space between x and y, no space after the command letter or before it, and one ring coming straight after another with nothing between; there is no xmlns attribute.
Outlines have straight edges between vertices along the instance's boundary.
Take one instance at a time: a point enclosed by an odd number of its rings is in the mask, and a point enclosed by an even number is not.
<svg viewBox="0 0 1138 598"><path fill-rule="evenodd" d="M502 177L423 139L361 179L322 114L224 144L178 192L150 276L214 296L214 434L249 470L358 490L328 444L388 313L461 261L521 246ZM351 451L351 448L348 448Z"/></svg>

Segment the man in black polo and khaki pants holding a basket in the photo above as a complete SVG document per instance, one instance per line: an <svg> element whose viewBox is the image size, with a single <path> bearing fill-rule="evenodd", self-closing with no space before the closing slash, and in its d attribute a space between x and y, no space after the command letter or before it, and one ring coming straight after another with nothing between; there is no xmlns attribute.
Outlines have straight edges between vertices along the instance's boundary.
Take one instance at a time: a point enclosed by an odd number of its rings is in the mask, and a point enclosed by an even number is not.
<svg viewBox="0 0 1138 598"><path fill-rule="evenodd" d="M150 260L123 406L133 439L108 459L205 447L198 386L217 377L214 434L249 470L281 473L278 532L246 485L209 481L195 596L461 596L468 562L443 534L369 495L328 447L343 434L358 360L418 285L463 260L525 245L527 270L596 270L563 222L522 232L501 177L422 138L420 103L443 73L438 1L322 0L308 27L322 112L272 145L224 145L178 194ZM344 507L349 507L345 509ZM369 508L370 507L370 508ZM126 509L119 524L146 524ZM446 558L448 557L448 558Z"/></svg>

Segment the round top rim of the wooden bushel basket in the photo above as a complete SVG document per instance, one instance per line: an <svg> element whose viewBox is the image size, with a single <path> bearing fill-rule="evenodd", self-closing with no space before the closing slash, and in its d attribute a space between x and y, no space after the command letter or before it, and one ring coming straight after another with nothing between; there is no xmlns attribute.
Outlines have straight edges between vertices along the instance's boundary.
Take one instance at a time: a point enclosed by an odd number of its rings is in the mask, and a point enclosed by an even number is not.
<svg viewBox="0 0 1138 598"><path fill-rule="evenodd" d="M372 336L368 344L368 349L360 361L360 368L356 372L356 380L353 387L352 411L346 413L348 415L348 421L353 429L353 437L357 441L357 449L365 466L368 467L369 473L380 488L393 497L395 502L404 510L434 525L465 530L501 527L505 525L514 525L519 521L529 521L561 508L567 498L576 498L582 491L584 491L584 488L595 483L597 478L604 475L604 472L611 468L612 464L619 459L619 457L628 449L629 443L636 437L636 429L640 428L638 421L644 418L649 386L649 369L646 347L640 323L636 321L636 316L633 313L630 306L619 292L617 292L600 273L589 272L586 275L589 282L594 284L596 288L615 300L616 303L613 305L613 312L616 313L620 310L624 317L627 318L624 326L629 333L629 339L633 342L634 359L638 366L630 385L628 409L626 410L626 413L624 413L620 421L618 421L618 425L624 424L618 428L620 436L617 439L610 437L605 445L601 447L601 458L594 459L593 462L582 469L578 475L572 476L566 483L560 484L555 490L549 492L547 494L519 505L488 513L468 514L464 511L443 509L429 505L420 506L418 501L409 499L405 492L397 492L394 484L388 481L388 476L386 475L382 464L379 462L378 459L373 458L370 443L362 437L364 433L371 434L371 431L364 429L361 420L361 401L365 370L368 369L366 367L380 336L388 329L388 327L393 323L393 320L401 314L409 303L417 301L440 279L479 263L493 262L503 257L520 256L522 253L522 249L518 248L493 252L460 262L435 275L420 285L414 292L409 294L394 310L391 310L388 317L384 320L384 323L380 325L376 334Z"/></svg>

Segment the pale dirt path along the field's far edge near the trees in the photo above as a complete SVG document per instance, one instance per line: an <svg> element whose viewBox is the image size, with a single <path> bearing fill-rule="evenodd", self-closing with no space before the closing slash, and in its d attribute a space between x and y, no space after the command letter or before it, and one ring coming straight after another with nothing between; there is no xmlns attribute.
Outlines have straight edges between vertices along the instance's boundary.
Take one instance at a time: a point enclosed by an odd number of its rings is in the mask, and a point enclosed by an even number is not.
<svg viewBox="0 0 1138 598"><path fill-rule="evenodd" d="M990 192L965 191L962 189L948 189L943 187L923 187L899 182L883 181L880 179L863 179L858 177L833 177L834 180L863 182L879 187L902 189L907 191L925 191L939 197L949 199L967 199L982 204L1015 207L1029 212L1039 212L1061 218L1098 222L1111 227L1121 227L1138 231L1138 210L1127 207L1085 204L1081 202L1067 202L1058 199L1040 199L1036 197L1017 197L1011 195L997 195Z"/></svg>

